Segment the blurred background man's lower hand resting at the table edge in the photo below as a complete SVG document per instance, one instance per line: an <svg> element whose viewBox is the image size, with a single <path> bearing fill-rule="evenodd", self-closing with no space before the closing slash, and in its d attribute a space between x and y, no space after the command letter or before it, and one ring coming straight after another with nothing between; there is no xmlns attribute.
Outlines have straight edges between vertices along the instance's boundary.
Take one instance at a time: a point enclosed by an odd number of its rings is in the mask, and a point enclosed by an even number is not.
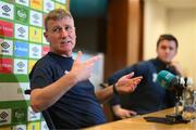
<svg viewBox="0 0 196 130"><path fill-rule="evenodd" d="M120 105L112 106L112 110L113 110L114 115L121 119L137 115L136 112L122 108Z"/></svg>

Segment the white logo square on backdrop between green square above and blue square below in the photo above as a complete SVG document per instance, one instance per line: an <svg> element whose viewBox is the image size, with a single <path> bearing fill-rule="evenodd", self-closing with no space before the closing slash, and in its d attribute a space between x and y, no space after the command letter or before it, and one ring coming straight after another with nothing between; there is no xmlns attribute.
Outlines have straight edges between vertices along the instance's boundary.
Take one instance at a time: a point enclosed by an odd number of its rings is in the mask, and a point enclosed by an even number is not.
<svg viewBox="0 0 196 130"><path fill-rule="evenodd" d="M15 38L28 40L28 26L15 24Z"/></svg>

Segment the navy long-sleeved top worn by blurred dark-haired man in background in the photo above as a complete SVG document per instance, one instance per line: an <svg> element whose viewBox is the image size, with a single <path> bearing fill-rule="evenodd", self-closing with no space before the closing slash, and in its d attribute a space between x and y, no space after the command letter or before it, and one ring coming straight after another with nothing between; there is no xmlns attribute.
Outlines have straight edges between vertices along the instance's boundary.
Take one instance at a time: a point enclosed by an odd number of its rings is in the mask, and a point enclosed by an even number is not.
<svg viewBox="0 0 196 130"><path fill-rule="evenodd" d="M143 80L133 93L114 96L110 102L111 105L121 104L123 108L135 110L137 114L147 114L174 106L174 92L166 90L156 82L157 74L162 69L177 75L173 67L158 58L140 62L114 73L108 79L109 84L117 82L119 78L131 72L135 73L135 77L143 76Z"/></svg>

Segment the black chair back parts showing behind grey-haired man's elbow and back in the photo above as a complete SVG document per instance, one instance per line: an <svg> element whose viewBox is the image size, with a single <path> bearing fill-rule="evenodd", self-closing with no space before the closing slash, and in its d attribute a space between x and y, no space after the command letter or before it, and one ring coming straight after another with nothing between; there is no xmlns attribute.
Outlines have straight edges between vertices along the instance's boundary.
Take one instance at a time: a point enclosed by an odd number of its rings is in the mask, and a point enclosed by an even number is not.
<svg viewBox="0 0 196 130"><path fill-rule="evenodd" d="M25 94L30 94L30 90L25 90ZM45 118L45 121L47 122L48 128L50 130L56 130L56 126L52 121L52 118L51 118L49 112L46 109L46 110L42 110L41 114Z"/></svg>

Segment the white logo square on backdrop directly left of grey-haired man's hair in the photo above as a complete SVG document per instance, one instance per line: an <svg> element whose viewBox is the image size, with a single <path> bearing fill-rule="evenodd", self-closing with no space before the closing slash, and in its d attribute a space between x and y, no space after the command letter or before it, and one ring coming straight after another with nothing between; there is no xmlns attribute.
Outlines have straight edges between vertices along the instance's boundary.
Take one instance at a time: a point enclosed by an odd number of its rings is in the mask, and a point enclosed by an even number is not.
<svg viewBox="0 0 196 130"><path fill-rule="evenodd" d="M42 27L42 14L30 10L30 25Z"/></svg>

